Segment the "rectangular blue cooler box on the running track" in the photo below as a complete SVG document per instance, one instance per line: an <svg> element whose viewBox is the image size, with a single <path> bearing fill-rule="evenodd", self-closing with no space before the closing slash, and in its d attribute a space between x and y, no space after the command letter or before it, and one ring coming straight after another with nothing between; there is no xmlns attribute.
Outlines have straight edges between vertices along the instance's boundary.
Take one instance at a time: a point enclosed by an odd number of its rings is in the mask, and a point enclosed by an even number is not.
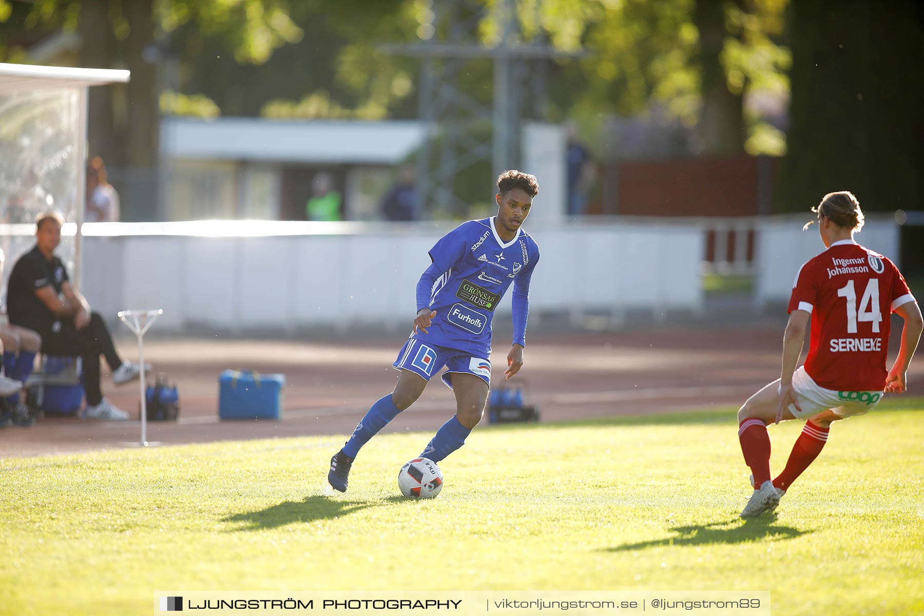
<svg viewBox="0 0 924 616"><path fill-rule="evenodd" d="M225 370L218 377L221 419L282 419L285 374Z"/></svg>

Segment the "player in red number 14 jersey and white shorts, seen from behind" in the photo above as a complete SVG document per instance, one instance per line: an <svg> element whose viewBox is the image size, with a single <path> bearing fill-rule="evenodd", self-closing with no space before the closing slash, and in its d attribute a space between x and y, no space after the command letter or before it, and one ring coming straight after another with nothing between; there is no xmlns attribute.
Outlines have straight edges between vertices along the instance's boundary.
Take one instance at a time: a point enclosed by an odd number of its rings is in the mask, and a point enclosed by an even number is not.
<svg viewBox="0 0 924 616"><path fill-rule="evenodd" d="M854 241L854 233L863 226L857 198L846 191L833 192L812 211L818 214L827 249L796 274L782 374L738 411L738 439L754 486L741 517L776 508L796 477L821 453L833 421L869 413L884 393L905 392L908 364L924 328L918 302L894 263ZM898 358L886 371L893 312L905 319L905 329ZM808 358L796 369L809 318ZM803 419L806 425L784 471L771 480L766 427L784 419Z"/></svg>

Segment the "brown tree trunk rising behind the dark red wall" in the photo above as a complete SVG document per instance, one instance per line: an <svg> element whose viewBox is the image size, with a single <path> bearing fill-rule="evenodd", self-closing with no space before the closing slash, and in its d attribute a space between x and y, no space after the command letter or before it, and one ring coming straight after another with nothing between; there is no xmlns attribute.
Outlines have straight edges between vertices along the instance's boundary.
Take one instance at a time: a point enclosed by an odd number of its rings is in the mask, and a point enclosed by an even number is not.
<svg viewBox="0 0 924 616"><path fill-rule="evenodd" d="M693 22L699 30L702 108L696 146L702 154L731 154L744 148L743 98L728 90L721 62L726 36L722 0L697 0Z"/></svg>

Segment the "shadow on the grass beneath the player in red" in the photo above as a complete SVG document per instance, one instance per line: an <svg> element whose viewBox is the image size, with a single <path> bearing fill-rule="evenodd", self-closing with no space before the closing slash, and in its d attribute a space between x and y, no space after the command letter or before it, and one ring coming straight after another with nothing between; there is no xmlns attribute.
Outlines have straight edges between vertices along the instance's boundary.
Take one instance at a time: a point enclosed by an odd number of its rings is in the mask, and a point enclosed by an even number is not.
<svg viewBox="0 0 924 616"><path fill-rule="evenodd" d="M601 551L621 552L631 550L645 550L646 548L660 548L663 546L699 546L711 543L747 543L769 539L778 541L792 539L806 535L812 531L799 530L791 526L774 525L776 515L761 516L742 520L734 517L730 520L712 522L704 525L675 526L671 528L675 537L626 543L614 548L604 548Z"/></svg>

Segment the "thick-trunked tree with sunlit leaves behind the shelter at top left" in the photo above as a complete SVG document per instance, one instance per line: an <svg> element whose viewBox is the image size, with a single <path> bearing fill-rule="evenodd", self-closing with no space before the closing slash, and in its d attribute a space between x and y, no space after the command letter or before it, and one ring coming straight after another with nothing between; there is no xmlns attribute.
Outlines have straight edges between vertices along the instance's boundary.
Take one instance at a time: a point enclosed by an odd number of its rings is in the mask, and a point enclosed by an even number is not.
<svg viewBox="0 0 924 616"><path fill-rule="evenodd" d="M17 3L20 4L20 3ZM225 46L235 63L261 64L301 30L288 14L287 0L38 0L28 10L0 0L5 32L77 31L79 64L124 67L131 81L124 90L91 92L91 154L127 167L131 179L128 218L150 218L156 205L159 156L159 95L169 48L165 39L193 23ZM21 45L0 47L6 58L25 57Z"/></svg>

